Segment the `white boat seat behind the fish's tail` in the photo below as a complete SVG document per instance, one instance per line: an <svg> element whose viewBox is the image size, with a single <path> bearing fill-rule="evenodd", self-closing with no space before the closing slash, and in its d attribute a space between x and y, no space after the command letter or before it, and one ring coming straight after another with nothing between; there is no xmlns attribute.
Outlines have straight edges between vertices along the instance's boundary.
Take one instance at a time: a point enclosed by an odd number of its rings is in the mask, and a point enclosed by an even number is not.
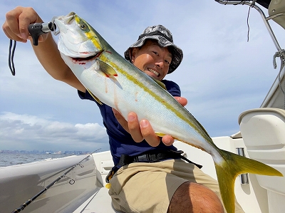
<svg viewBox="0 0 285 213"><path fill-rule="evenodd" d="M247 110L239 115L239 125L249 157L285 175L285 110ZM285 177L257 175L257 180L267 189L269 212L284 212Z"/></svg>

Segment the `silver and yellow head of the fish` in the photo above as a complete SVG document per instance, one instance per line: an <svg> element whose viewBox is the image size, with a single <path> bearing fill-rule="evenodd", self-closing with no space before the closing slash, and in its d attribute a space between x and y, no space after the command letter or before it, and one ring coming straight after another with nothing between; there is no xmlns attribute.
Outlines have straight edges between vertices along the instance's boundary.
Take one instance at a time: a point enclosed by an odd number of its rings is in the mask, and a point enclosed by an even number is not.
<svg viewBox="0 0 285 213"><path fill-rule="evenodd" d="M64 56L92 58L103 51L93 28L74 12L58 16L54 21L59 32L58 50Z"/></svg>

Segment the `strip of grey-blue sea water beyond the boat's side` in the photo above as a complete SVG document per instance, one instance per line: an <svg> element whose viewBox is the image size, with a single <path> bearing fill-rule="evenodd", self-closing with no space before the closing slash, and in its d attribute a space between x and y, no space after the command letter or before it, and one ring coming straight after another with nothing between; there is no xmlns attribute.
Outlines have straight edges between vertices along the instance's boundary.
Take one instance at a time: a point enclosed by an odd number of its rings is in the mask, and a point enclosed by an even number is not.
<svg viewBox="0 0 285 213"><path fill-rule="evenodd" d="M45 159L61 158L72 154L26 154L26 153L0 153L0 167L21 165Z"/></svg>

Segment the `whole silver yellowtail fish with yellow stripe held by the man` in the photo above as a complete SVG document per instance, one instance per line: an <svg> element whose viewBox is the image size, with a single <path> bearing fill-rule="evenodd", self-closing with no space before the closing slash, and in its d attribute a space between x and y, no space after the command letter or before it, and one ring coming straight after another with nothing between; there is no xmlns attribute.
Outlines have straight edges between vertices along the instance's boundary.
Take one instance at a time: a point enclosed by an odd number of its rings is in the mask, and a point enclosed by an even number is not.
<svg viewBox="0 0 285 213"><path fill-rule="evenodd" d="M124 118L135 112L139 120L150 121L157 135L172 135L212 155L228 213L234 212L234 180L239 174L283 176L261 162L220 150L202 125L161 83L126 61L75 13L59 16L55 23L63 60L95 100L115 108Z"/></svg>

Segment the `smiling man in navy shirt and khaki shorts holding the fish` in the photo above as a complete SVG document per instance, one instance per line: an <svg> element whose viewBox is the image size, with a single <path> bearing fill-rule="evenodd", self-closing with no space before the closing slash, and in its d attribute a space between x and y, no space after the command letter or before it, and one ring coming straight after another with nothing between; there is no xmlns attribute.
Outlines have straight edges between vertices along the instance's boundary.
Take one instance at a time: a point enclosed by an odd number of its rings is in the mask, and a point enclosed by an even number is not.
<svg viewBox="0 0 285 213"><path fill-rule="evenodd" d="M28 24L36 22L43 22L36 11L19 6L6 14L2 28L9 38L26 42L30 39ZM53 78L76 88L81 98L93 100L63 62L50 33L41 36L33 49ZM163 79L182 61L182 50L175 46L167 28L146 28L138 41L125 51L125 58L142 72L165 83L172 95L180 96L179 86ZM187 103L185 98L176 99L182 105ZM114 174L108 177L115 209L120 212L224 212L217 181L195 164L181 160L170 135L157 137L150 123L139 121L135 113L130 113L125 120L107 105L98 107L115 163ZM150 155L155 156L154 159L149 160ZM238 204L236 209L236 212L243 212Z"/></svg>

